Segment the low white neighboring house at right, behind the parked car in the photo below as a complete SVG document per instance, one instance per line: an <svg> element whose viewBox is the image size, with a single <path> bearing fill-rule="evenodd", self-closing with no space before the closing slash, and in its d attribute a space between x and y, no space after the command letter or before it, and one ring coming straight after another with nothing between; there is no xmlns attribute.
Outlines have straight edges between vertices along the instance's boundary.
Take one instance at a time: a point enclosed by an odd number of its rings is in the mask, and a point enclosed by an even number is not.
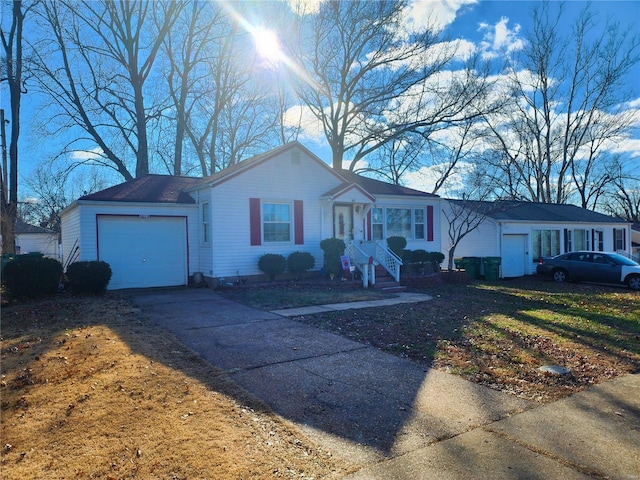
<svg viewBox="0 0 640 480"><path fill-rule="evenodd" d="M631 255L631 223L575 205L519 201L474 202L443 200L443 208L471 209L484 215L455 256L501 257L501 277L535 273L540 256L578 250ZM451 218L451 215L449 215ZM449 248L446 215L441 215L443 252Z"/></svg>

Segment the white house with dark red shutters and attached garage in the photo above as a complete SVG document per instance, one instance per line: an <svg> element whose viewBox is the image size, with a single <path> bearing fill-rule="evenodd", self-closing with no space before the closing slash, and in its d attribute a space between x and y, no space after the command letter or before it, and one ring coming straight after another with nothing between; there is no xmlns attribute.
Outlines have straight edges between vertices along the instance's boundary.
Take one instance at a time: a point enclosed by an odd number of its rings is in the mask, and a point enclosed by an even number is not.
<svg viewBox="0 0 640 480"><path fill-rule="evenodd" d="M393 270L383 240L441 251L439 216L438 196L334 170L297 142L206 178L137 178L60 214L63 259L106 261L110 289L260 275L266 253L310 252L319 270L330 237L350 244L361 268L374 257Z"/></svg>

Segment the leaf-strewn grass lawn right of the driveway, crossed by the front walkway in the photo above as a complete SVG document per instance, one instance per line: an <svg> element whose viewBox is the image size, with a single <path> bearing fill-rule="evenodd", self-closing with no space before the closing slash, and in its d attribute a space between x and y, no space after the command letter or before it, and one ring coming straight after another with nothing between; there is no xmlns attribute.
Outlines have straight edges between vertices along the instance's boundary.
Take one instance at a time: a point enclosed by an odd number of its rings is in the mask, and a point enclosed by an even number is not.
<svg viewBox="0 0 640 480"><path fill-rule="evenodd" d="M441 283L421 291L434 299L296 320L542 403L640 371L638 292L535 276ZM287 306L304 304L310 294L324 296L325 303L336 301L333 292L318 286L223 294L266 309L278 298L286 298ZM316 298L316 303L323 302ZM547 364L571 373L541 372Z"/></svg>

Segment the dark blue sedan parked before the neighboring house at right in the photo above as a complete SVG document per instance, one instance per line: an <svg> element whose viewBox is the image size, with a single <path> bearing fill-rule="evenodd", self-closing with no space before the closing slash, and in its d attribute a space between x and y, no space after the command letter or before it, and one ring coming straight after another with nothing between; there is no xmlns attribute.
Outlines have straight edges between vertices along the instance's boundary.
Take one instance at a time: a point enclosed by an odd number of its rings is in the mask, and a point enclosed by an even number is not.
<svg viewBox="0 0 640 480"><path fill-rule="evenodd" d="M640 264L617 253L570 252L541 257L536 271L556 282L615 283L640 290Z"/></svg>

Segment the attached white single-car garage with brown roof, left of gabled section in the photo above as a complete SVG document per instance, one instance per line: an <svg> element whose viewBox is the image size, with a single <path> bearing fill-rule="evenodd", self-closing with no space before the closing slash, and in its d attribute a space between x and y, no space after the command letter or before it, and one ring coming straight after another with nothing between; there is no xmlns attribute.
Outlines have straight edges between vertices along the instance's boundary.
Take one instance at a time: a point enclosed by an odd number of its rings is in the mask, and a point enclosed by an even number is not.
<svg viewBox="0 0 640 480"><path fill-rule="evenodd" d="M63 264L107 262L109 290L187 285L199 270L198 205L184 190L200 180L147 175L81 197L60 214Z"/></svg>

